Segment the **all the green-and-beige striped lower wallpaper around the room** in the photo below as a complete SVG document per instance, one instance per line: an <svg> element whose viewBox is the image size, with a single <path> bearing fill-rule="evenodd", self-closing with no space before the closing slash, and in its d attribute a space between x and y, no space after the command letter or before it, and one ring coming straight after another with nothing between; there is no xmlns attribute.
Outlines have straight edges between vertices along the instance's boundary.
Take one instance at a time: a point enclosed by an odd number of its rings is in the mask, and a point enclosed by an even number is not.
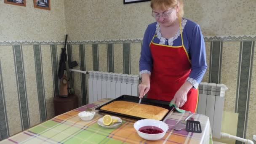
<svg viewBox="0 0 256 144"><path fill-rule="evenodd" d="M239 113L237 136L256 133L256 37L205 37L208 69L203 81L223 83L224 110ZM63 43L0 42L0 139L54 116ZM141 40L69 42L69 61L79 70L139 74ZM254 63L253 63L254 62ZM88 102L88 76L71 72L79 106ZM237 144L240 142L237 141Z"/></svg>

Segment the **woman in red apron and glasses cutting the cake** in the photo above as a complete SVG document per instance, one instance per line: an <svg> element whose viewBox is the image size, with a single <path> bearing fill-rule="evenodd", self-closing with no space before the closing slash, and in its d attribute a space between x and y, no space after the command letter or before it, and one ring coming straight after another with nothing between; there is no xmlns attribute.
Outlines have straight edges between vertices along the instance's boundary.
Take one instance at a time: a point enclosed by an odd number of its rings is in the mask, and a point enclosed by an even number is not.
<svg viewBox="0 0 256 144"><path fill-rule="evenodd" d="M171 101L195 112L207 68L205 43L198 24L183 16L182 0L151 0L152 16L139 61L139 97Z"/></svg>

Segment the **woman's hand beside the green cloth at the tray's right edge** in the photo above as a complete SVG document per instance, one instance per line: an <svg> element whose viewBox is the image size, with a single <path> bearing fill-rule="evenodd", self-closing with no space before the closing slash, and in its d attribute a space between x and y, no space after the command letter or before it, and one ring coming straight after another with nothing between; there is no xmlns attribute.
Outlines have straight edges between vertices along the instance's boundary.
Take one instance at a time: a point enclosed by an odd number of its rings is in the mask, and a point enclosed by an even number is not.
<svg viewBox="0 0 256 144"><path fill-rule="evenodd" d="M185 82L179 90L175 93L173 102L176 104L176 107L182 107L187 101L187 93L192 88L191 83Z"/></svg>

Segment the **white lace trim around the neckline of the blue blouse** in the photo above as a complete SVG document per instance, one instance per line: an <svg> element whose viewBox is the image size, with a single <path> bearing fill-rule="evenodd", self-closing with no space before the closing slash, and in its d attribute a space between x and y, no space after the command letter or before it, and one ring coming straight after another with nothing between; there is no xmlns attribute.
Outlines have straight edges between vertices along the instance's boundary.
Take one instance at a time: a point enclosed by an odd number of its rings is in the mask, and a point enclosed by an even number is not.
<svg viewBox="0 0 256 144"><path fill-rule="evenodd" d="M186 24L187 24L187 19L183 19L182 22L181 22L181 29L182 29L182 31L183 31L183 29L184 29ZM156 24L157 38L160 40L159 44L164 45L166 39L164 37L162 37L159 25L160 25L159 23ZM172 46L173 45L173 41L176 40L180 35L181 35L181 30L179 28L178 32L176 32L176 34L173 37L168 39L168 45Z"/></svg>

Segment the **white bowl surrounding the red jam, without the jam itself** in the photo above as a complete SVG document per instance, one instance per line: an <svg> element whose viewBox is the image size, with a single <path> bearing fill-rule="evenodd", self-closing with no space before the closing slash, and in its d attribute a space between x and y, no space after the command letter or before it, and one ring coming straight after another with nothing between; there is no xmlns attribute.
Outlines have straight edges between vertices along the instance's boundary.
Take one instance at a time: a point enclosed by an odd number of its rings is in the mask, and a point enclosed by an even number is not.
<svg viewBox="0 0 256 144"><path fill-rule="evenodd" d="M148 134L148 133L142 133L139 131L139 128L144 126L155 126L158 128L161 128L163 130L163 133L157 133L157 134ZM133 127L136 129L139 136L143 139L155 141L158 139L162 139L165 135L166 131L168 131L168 125L160 120L152 120L152 119L143 119L139 120L136 123L134 123Z"/></svg>

